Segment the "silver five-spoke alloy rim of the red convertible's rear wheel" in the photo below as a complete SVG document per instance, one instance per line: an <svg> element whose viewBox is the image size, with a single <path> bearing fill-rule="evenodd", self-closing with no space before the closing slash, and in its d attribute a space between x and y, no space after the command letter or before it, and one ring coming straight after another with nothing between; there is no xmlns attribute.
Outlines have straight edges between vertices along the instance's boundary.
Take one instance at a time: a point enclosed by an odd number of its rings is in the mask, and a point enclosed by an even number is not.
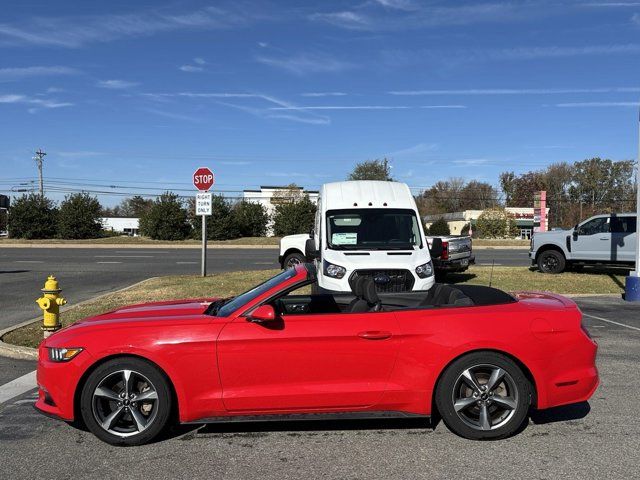
<svg viewBox="0 0 640 480"><path fill-rule="evenodd" d="M518 388L503 368L480 364L458 376L451 401L467 426L481 431L495 430L516 413Z"/></svg>

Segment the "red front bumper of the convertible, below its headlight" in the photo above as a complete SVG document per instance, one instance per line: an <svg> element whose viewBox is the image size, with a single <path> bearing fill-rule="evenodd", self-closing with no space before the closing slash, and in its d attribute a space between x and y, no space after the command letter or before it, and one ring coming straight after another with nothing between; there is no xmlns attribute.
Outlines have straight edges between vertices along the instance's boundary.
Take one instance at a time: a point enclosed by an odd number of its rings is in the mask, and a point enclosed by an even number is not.
<svg viewBox="0 0 640 480"><path fill-rule="evenodd" d="M40 345L35 408L45 415L73 421L76 388L91 363L92 357L86 350L69 362L51 362L46 347Z"/></svg>

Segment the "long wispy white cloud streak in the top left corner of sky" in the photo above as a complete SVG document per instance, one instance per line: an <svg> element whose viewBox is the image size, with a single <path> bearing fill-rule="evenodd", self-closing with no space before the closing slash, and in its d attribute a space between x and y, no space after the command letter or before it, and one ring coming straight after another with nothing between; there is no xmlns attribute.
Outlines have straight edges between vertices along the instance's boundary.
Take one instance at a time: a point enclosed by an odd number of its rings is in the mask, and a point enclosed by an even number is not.
<svg viewBox="0 0 640 480"><path fill-rule="evenodd" d="M230 4L233 5L233 4ZM226 29L256 20L243 5L233 10L208 6L183 13L154 8L132 14L34 17L22 25L0 23L0 40L13 44L77 48L89 43L189 29Z"/></svg>

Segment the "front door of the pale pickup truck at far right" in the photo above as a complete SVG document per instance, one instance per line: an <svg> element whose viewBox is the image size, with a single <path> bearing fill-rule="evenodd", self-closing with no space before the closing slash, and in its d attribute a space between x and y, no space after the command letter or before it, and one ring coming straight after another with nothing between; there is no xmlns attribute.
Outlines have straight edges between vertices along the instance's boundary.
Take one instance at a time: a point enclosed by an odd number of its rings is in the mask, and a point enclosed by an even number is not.
<svg viewBox="0 0 640 480"><path fill-rule="evenodd" d="M571 258L610 262L615 256L612 249L610 217L600 216L579 225L571 239Z"/></svg>

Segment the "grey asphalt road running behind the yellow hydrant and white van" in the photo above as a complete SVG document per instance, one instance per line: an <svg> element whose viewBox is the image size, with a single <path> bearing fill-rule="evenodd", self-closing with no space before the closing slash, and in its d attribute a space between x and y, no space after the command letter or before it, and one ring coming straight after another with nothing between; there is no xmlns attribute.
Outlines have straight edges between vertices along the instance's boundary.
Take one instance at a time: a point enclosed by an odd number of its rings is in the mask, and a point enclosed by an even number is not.
<svg viewBox="0 0 640 480"><path fill-rule="evenodd" d="M479 265L529 265L528 251L479 249ZM278 250L209 249L208 271L278 268ZM0 329L35 318L47 275L55 274L69 304L160 275L200 273L199 249L0 248Z"/></svg>

